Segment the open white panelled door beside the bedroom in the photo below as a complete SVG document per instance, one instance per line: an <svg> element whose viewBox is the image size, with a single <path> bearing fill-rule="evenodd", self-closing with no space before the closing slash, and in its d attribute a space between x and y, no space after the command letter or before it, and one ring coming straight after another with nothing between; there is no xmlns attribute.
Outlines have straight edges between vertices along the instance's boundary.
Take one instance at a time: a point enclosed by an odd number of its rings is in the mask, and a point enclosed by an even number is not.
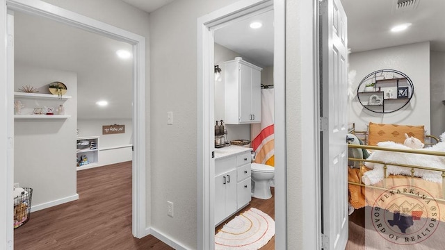
<svg viewBox="0 0 445 250"><path fill-rule="evenodd" d="M340 0L324 0L320 10L323 248L345 249L348 241L347 22Z"/></svg>

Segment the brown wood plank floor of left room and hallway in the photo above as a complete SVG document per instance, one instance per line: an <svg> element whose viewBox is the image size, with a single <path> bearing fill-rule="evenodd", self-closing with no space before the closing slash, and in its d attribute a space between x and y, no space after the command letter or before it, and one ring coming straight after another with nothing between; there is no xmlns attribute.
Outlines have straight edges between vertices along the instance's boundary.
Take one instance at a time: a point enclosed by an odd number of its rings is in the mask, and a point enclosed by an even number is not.
<svg viewBox="0 0 445 250"><path fill-rule="evenodd" d="M14 231L14 249L172 249L131 234L131 162L78 171L77 193L77 201L31 213Z"/></svg>

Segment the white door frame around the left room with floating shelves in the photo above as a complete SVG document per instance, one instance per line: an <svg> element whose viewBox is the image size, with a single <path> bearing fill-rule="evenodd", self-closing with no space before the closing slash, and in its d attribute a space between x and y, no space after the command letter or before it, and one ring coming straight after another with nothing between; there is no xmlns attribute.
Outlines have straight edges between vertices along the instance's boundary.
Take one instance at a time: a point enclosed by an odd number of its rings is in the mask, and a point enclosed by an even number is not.
<svg viewBox="0 0 445 250"><path fill-rule="evenodd" d="M54 19L57 22L62 22L76 28L81 28L85 31L90 31L92 33L97 33L99 35L104 35L108 38L115 40L120 40L122 42L127 42L133 45L133 165L132 165L132 233L136 238L142 238L149 233L146 226L146 149L145 149L145 38L141 35L125 31L122 28L117 28L103 22L99 22L90 17L79 15L70 10L65 10L63 8L53 6L49 3L38 1L38 0L0 0L0 22L1 28L0 32L3 33L5 41L8 38L8 33L6 30L7 22L7 12L8 11L21 11L27 12L31 15L39 15L41 17L46 17L49 19ZM3 41L2 41L3 45ZM5 51L1 51L0 70L5 74L3 80L5 85L0 88L0 95L5 97L6 108L2 109L0 115L6 117L6 121L9 126L3 130L1 129L1 135L6 138L6 143L1 144L1 149L6 147L8 152L6 153L6 168L1 168L1 176L5 176L5 183L0 185L0 200L6 201L6 210L0 210L0 216L5 219L5 222L10 221L13 218L13 181L14 181L14 165L13 165L13 63L11 59L8 60L6 44ZM3 57L3 53L5 56ZM12 122L11 122L12 121ZM10 125L12 124L12 126ZM1 124L0 128L3 128L5 124ZM6 135L3 134L6 131ZM6 152L1 150L3 152ZM3 175L4 174L4 175ZM3 208L1 208L3 209ZM0 230L3 230L0 229ZM6 227L6 232L0 231L0 242L6 242L5 249L12 249L13 247L13 226ZM5 236L3 240L3 236ZM0 246L3 243L0 244ZM1 247L0 247L1 248Z"/></svg>

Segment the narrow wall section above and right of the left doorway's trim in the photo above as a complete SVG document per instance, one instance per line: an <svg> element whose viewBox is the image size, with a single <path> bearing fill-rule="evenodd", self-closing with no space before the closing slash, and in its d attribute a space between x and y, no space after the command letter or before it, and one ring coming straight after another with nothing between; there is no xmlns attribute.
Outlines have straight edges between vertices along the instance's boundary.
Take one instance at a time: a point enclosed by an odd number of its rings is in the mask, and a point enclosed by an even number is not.
<svg viewBox="0 0 445 250"><path fill-rule="evenodd" d="M124 3L124 1L120 0L78 0L78 1L65 1L65 0L44 0L45 2L54 4L55 6L59 6L61 8L65 8L67 10L71 10L73 12L77 12L81 15L85 15L86 17L91 17L92 19L99 20L101 22L104 22L106 24L111 24L113 26L116 26L118 28L122 28L127 31L131 31L132 33L136 33L138 35L142 35L145 37L145 51L147 58L146 62L146 94L147 97L150 96L150 84L149 84L149 53L150 53L150 46L149 46L149 15L147 12L144 12L143 10L139 10L137 8L134 8L133 6L130 6L127 3ZM145 140L147 140L146 144L146 178L147 183L150 183L150 179L152 176L152 173L150 171L151 165L150 165L150 101L146 102L146 129L147 129L147 136ZM147 213L146 213L146 224L147 226L150 225L150 219L151 219L151 189L152 186L147 184L146 194L146 207L147 207Z"/></svg>

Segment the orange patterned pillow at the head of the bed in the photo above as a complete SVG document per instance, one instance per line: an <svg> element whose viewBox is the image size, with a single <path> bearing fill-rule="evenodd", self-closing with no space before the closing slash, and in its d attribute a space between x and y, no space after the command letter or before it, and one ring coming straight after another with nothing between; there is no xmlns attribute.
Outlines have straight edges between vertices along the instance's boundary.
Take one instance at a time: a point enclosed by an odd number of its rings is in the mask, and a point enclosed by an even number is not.
<svg viewBox="0 0 445 250"><path fill-rule="evenodd" d="M398 125L398 124L375 124L369 122L368 144L376 146L378 142L405 142L405 133L424 143L425 126Z"/></svg>

